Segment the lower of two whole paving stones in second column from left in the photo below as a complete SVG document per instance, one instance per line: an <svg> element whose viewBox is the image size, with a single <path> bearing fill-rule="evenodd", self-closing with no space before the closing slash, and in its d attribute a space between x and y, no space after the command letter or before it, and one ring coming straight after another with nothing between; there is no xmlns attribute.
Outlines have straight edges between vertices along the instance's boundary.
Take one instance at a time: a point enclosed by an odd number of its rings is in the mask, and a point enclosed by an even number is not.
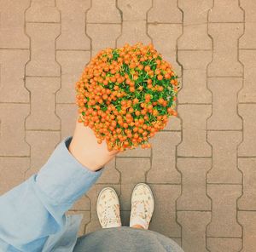
<svg viewBox="0 0 256 252"><path fill-rule="evenodd" d="M26 129L61 129L61 120L55 114L55 92L60 87L59 77L26 77L26 88L31 92Z"/></svg>

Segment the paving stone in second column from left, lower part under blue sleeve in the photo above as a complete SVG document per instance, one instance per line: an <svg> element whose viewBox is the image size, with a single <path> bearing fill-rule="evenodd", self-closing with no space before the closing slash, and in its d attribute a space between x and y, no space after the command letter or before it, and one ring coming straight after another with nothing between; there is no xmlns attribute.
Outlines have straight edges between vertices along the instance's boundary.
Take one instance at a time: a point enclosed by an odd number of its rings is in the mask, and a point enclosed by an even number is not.
<svg viewBox="0 0 256 252"><path fill-rule="evenodd" d="M38 173L44 163L47 162L55 147L61 141L59 131L26 131L26 142L31 148L30 169L26 171L26 179ZM44 150L42 152L42 150Z"/></svg>

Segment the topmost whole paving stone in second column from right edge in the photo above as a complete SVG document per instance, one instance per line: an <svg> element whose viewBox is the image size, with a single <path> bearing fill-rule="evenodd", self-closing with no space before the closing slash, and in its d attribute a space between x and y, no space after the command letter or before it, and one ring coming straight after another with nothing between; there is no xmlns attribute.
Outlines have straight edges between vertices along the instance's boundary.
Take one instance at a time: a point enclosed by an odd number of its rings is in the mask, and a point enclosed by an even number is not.
<svg viewBox="0 0 256 252"><path fill-rule="evenodd" d="M243 25L210 23L208 31L213 38L213 60L208 67L208 76L241 77L243 71L237 60L237 41L243 33Z"/></svg>

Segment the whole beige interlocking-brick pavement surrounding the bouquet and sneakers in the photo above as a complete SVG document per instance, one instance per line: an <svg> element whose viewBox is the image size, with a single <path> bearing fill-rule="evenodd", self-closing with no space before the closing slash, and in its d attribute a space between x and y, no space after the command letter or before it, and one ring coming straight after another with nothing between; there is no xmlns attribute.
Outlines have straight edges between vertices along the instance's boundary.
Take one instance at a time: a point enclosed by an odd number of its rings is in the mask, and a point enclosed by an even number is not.
<svg viewBox="0 0 256 252"><path fill-rule="evenodd" d="M1 194L73 134L73 85L90 58L152 42L182 82L179 117L152 150L108 163L69 214L84 214L79 234L99 229L97 193L113 186L128 225L131 190L144 181L156 203L150 229L186 252L255 251L254 0L0 0L0 19Z"/></svg>

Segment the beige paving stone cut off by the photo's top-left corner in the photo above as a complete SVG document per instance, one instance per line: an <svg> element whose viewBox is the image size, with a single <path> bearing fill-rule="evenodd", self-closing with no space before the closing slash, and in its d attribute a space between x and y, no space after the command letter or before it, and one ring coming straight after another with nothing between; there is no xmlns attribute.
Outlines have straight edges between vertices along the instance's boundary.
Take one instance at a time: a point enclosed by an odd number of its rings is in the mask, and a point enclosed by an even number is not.
<svg viewBox="0 0 256 252"><path fill-rule="evenodd" d="M0 48L29 48L29 38L24 32L24 12L29 4L29 0L2 0L0 2ZM19 39L17 39L17 37L19 37Z"/></svg>

